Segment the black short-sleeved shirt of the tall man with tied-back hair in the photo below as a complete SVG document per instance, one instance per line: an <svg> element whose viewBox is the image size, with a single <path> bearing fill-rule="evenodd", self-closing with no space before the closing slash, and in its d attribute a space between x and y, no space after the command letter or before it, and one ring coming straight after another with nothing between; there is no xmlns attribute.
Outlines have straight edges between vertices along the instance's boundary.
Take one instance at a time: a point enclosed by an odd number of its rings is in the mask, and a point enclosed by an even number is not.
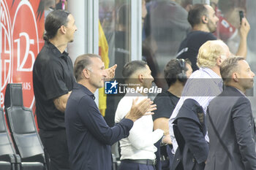
<svg viewBox="0 0 256 170"><path fill-rule="evenodd" d="M56 109L53 99L67 94L75 82L72 61L53 44L45 42L33 68L34 97L39 129L65 129L64 113Z"/></svg>

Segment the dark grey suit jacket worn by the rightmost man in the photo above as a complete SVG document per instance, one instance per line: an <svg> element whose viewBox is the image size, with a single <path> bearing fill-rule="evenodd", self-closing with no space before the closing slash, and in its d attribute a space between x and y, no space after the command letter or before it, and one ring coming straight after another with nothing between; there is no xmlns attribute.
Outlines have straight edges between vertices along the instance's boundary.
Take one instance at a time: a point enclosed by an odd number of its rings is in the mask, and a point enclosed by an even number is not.
<svg viewBox="0 0 256 170"><path fill-rule="evenodd" d="M219 142L208 115L233 161ZM256 169L255 123L251 104L244 94L225 86L208 105L207 124L210 143L206 170Z"/></svg>

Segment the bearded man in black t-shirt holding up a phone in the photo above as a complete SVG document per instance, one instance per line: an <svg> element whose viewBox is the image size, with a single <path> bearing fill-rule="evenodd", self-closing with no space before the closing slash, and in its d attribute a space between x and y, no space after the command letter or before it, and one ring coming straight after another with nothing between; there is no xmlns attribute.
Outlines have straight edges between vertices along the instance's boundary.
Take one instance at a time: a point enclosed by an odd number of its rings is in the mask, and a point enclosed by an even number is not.
<svg viewBox="0 0 256 170"><path fill-rule="evenodd" d="M195 4L189 10L188 18L192 31L187 34L186 39L181 42L178 49L177 58L189 58L192 63L192 69L195 72L197 67L197 53L201 45L209 40L216 40L214 32L217 31L217 17L214 9L207 4ZM246 58L246 37L249 32L249 23L246 18L241 23L241 39L236 55Z"/></svg>

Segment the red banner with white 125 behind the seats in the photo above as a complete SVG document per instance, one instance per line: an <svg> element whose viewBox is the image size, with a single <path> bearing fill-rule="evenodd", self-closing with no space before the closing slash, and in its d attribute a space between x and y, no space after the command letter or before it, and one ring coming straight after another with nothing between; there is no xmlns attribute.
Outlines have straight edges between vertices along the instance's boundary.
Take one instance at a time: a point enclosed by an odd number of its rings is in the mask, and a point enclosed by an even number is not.
<svg viewBox="0 0 256 170"><path fill-rule="evenodd" d="M34 109L32 69L44 41L42 0L1 1L1 107L10 82L22 83L23 104Z"/></svg>

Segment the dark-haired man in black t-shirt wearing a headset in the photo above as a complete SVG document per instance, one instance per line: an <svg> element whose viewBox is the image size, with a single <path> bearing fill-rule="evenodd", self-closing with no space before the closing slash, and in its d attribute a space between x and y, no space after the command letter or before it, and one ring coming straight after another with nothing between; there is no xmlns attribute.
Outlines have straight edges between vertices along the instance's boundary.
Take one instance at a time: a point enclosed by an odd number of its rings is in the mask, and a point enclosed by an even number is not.
<svg viewBox="0 0 256 170"><path fill-rule="evenodd" d="M169 134L168 120L176 107L187 78L192 74L191 62L186 59L172 59L165 66L164 75L168 89L159 93L154 98L157 110L152 115L154 130L157 128L165 131L165 136L157 142L157 166L156 169L170 169L173 162L171 150L173 145Z"/></svg>

